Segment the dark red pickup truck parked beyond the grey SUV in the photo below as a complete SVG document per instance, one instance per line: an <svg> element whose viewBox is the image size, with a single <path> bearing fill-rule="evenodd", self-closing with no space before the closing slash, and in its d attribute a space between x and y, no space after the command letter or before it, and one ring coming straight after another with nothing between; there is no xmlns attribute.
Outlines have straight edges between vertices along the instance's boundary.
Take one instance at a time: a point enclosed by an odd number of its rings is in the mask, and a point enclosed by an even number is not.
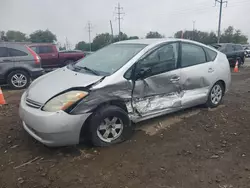
<svg viewBox="0 0 250 188"><path fill-rule="evenodd" d="M55 44L30 44L29 47L33 49L40 57L43 68L58 68L73 63L84 57L81 51L58 51Z"/></svg>

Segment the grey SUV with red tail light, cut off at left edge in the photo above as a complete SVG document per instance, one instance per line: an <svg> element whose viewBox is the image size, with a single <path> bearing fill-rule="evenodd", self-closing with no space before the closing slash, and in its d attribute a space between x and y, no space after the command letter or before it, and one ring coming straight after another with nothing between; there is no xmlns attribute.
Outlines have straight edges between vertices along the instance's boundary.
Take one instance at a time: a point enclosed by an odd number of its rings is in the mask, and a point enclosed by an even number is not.
<svg viewBox="0 0 250 188"><path fill-rule="evenodd" d="M42 75L40 57L28 46L0 42L0 83L13 89L26 88L31 79Z"/></svg>

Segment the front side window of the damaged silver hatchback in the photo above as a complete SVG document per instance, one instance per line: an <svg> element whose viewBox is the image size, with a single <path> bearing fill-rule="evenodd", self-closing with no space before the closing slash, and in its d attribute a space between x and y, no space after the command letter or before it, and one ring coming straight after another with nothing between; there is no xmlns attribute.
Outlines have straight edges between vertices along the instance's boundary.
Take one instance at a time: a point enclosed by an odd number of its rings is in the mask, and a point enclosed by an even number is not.
<svg viewBox="0 0 250 188"><path fill-rule="evenodd" d="M139 69L150 69L147 77L177 68L179 43L166 44L140 61Z"/></svg>

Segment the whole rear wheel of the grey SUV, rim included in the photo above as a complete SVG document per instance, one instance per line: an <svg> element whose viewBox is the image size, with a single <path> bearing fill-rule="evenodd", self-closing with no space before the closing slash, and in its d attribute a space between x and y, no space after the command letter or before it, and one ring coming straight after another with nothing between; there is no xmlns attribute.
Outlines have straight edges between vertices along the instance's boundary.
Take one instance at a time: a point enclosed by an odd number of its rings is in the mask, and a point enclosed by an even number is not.
<svg viewBox="0 0 250 188"><path fill-rule="evenodd" d="M12 89L24 89L30 84L30 76L22 70L12 71L7 76L7 83Z"/></svg>

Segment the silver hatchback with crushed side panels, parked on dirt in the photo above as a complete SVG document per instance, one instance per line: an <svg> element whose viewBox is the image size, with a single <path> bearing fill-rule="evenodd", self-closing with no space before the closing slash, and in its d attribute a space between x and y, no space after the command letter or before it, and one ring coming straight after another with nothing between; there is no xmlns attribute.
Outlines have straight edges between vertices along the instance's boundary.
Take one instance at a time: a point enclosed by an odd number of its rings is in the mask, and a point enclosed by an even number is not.
<svg viewBox="0 0 250 188"><path fill-rule="evenodd" d="M108 45L35 80L22 95L24 129L47 146L128 139L134 123L184 108L217 107L231 72L221 52L189 40Z"/></svg>

